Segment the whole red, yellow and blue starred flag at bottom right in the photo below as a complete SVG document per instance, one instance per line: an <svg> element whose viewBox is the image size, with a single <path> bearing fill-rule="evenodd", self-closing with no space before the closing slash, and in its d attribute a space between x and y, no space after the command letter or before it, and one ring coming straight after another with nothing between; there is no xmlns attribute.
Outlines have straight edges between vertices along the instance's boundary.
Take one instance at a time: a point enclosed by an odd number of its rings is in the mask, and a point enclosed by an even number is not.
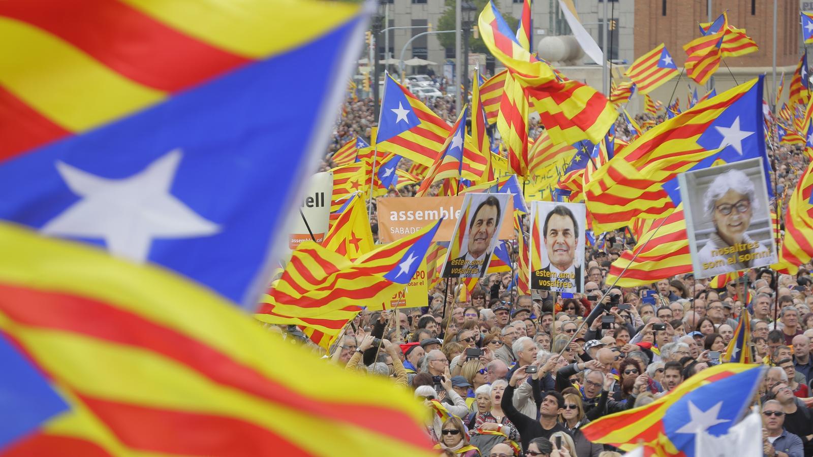
<svg viewBox="0 0 813 457"><path fill-rule="evenodd" d="M645 446L646 455L694 457L696 433L719 436L745 416L764 369L746 363L706 368L653 403L593 420L582 433L623 450Z"/></svg>

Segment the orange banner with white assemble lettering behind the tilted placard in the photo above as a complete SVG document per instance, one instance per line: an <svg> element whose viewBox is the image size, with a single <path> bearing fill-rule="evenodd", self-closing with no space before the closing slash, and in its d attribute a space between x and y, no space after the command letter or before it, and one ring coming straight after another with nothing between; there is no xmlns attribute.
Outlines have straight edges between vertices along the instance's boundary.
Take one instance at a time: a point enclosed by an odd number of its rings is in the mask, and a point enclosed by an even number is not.
<svg viewBox="0 0 813 457"><path fill-rule="evenodd" d="M506 194L508 195L508 194ZM513 197L508 200L513 205ZM456 197L382 197L378 198L378 239L382 243L398 241L415 233L433 220L444 218L435 233L435 242L448 242L460 216L465 195ZM510 207L510 206L509 206ZM511 211L502 211L499 239L514 238Z"/></svg>

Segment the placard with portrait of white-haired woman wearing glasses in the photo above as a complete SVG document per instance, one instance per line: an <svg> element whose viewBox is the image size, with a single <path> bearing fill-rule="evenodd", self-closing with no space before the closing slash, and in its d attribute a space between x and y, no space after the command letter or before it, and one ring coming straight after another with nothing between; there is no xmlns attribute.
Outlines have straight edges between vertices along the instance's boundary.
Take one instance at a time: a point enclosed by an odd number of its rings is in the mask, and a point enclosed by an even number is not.
<svg viewBox="0 0 813 457"><path fill-rule="evenodd" d="M685 172L678 180L695 277L776 263L761 159Z"/></svg>

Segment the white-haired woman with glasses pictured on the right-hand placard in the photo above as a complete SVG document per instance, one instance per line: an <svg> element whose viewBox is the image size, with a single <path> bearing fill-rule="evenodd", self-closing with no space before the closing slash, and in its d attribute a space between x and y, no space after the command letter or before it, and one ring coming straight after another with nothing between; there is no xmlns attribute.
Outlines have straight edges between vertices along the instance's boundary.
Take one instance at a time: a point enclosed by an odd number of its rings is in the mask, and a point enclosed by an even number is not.
<svg viewBox="0 0 813 457"><path fill-rule="evenodd" d="M762 242L751 238L748 228L759 211L754 183L740 170L728 170L711 182L703 207L715 231L698 252L703 276L763 267L776 262Z"/></svg>

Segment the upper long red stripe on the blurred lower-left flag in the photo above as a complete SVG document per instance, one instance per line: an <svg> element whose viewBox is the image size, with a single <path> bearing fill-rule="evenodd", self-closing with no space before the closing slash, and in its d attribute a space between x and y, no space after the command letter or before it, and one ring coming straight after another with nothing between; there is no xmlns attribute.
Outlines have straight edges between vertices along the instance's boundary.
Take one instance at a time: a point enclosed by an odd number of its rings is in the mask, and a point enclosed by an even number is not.
<svg viewBox="0 0 813 457"><path fill-rule="evenodd" d="M183 363L221 385L298 411L310 411L314 416L357 424L406 442L414 442L414 438L420 436L415 429L396 426L414 423L400 411L307 397L254 368L237 363L205 342L107 303L70 294L0 285L0 310L20 324L80 333L153 351Z"/></svg>

